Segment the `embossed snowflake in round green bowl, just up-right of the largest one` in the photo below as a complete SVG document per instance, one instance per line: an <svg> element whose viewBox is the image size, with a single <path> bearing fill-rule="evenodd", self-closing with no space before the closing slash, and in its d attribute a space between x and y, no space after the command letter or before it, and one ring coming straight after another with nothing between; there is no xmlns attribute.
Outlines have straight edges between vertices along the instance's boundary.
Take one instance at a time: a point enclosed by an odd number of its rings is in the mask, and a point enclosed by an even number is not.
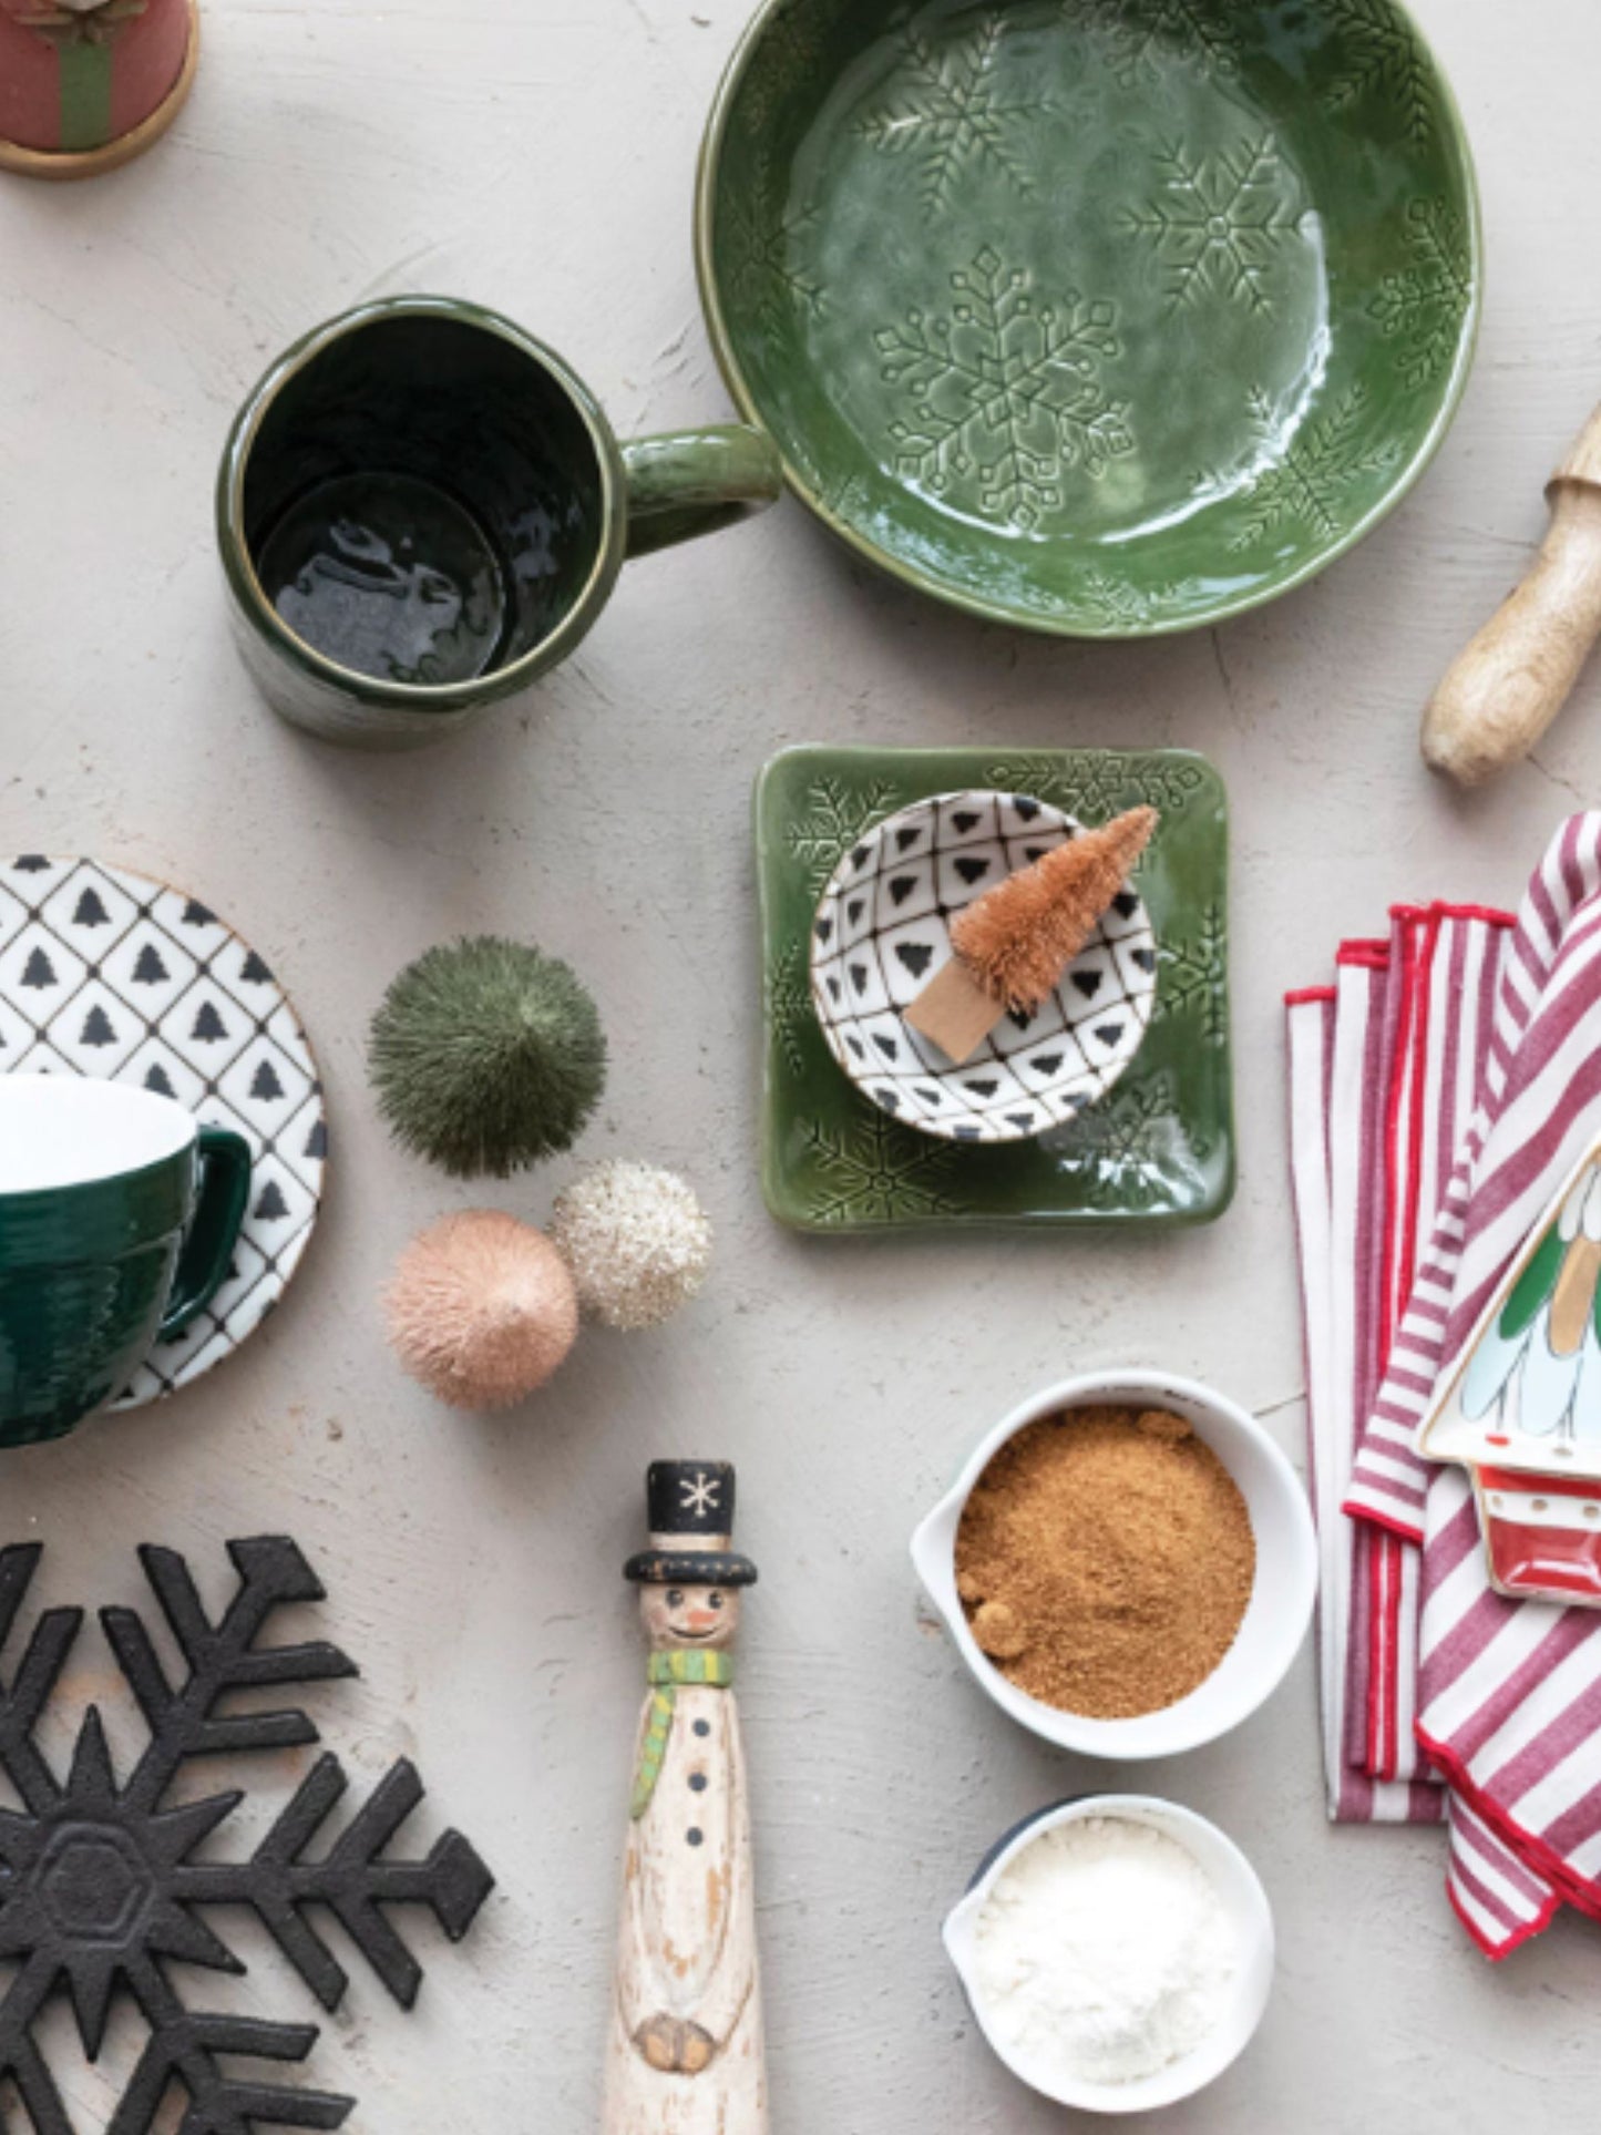
<svg viewBox="0 0 1601 2135"><path fill-rule="evenodd" d="M1272 271L1300 241L1304 220L1272 137L1212 156L1191 156L1170 141L1157 167L1161 190L1129 209L1125 226L1155 252L1174 310L1225 297L1270 312Z"/></svg>

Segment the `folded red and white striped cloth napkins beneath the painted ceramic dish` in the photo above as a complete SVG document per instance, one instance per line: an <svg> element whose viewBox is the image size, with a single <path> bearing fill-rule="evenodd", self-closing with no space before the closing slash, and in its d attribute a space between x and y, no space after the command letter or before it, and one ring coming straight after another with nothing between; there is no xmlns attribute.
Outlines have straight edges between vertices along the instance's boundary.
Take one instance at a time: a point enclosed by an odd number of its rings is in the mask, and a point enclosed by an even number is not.
<svg viewBox="0 0 1601 2135"><path fill-rule="evenodd" d="M1467 1473L1415 1437L1601 1127L1601 816L1516 922L1402 907L1287 1014L1330 1815L1445 1819L1505 1956L1560 1902L1601 1917L1601 1614L1496 1595Z"/></svg>

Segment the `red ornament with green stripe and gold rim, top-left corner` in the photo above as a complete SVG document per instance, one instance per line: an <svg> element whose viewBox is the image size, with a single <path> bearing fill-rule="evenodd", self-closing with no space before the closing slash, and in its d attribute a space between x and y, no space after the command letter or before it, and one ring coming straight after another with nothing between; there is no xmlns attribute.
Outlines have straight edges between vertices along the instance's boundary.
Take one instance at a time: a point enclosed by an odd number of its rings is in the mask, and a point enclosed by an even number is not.
<svg viewBox="0 0 1601 2135"><path fill-rule="evenodd" d="M0 0L0 169L126 162L177 117L196 51L194 0Z"/></svg>

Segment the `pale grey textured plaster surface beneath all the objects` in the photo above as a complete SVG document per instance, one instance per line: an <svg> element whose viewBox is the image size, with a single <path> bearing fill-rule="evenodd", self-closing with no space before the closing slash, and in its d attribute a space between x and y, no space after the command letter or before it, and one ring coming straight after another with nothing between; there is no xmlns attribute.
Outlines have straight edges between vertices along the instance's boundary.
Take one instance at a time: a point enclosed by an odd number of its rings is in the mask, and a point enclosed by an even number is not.
<svg viewBox="0 0 1601 2135"><path fill-rule="evenodd" d="M619 429L722 414L689 267L702 111L739 0L211 0L175 137L85 188L0 186L0 848L88 850L203 895L292 989L333 1114L297 1292L205 1388L9 1454L0 1529L51 1599L134 1597L132 1548L290 1529L365 1680L318 1695L359 1770L418 1757L502 1887L463 1951L418 1932L406 2022L367 1977L312 2071L359 2135L587 2135L596 2120L640 1648L617 1565L647 1458L739 1458L764 1567L747 1635L775 2124L1044 2135L990 2062L937 1924L1016 1817L1104 1774L1008 1727L922 1620L905 1539L971 1439L1072 1369L1151 1360L1300 1456L1279 995L1392 899L1511 899L1595 798L1601 681L1539 762L1464 803L1417 709L1522 570L1601 376L1601 137L1584 0L1422 0L1477 147L1490 301L1422 491L1283 604L1151 649L980 628L830 549L798 506L630 570L532 717L361 760L278 726L226 638L209 485L267 359L380 290L495 303ZM1189 743L1234 801L1242 1183L1200 1234L807 1243L756 1187L749 786L779 745ZM374 1294L474 1200L399 1157L363 1089L399 963L504 929L589 976L615 1042L581 1157L683 1166L719 1228L670 1332L593 1334L557 1388L463 1422L391 1366ZM478 1196L544 1217L572 1164ZM107 1691L85 1640L77 1687ZM1119 1776L1119 1774L1106 1774ZM1456 1930L1434 1836L1330 1832L1313 1672L1230 1742L1121 1774L1217 1817L1279 1913L1255 2050L1178 2135L1336 2135L1377 2114L1505 2135L1595 2122L1601 1932L1501 1973ZM254 1945L252 1945L254 1947ZM226 1983L224 1983L226 1986ZM307 2013L263 1964L267 2013ZM126 2056L130 2041L122 2041ZM66 2045L70 2060L70 2041ZM85 2129L102 2099L70 2077Z"/></svg>

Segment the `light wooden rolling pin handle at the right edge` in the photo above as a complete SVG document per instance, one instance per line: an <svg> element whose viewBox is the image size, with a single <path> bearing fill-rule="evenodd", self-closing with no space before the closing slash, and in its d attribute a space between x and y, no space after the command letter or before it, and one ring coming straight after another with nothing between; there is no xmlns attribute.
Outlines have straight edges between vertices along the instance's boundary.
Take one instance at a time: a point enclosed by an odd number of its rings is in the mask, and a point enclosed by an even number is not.
<svg viewBox="0 0 1601 2135"><path fill-rule="evenodd" d="M1528 756L1601 636L1601 408L1545 500L1552 523L1528 576L1424 713L1424 758L1458 786L1481 786Z"/></svg>

